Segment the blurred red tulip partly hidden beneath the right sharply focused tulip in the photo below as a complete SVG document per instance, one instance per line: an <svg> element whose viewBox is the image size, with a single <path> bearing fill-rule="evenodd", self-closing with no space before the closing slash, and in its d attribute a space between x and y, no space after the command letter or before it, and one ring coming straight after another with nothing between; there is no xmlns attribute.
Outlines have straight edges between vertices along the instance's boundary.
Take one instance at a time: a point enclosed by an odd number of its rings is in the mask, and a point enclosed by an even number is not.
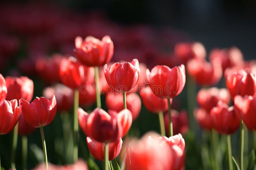
<svg viewBox="0 0 256 170"><path fill-rule="evenodd" d="M156 96L149 86L140 89L140 97L144 106L152 113L168 110L167 100ZM172 98L170 102L172 103Z"/></svg>

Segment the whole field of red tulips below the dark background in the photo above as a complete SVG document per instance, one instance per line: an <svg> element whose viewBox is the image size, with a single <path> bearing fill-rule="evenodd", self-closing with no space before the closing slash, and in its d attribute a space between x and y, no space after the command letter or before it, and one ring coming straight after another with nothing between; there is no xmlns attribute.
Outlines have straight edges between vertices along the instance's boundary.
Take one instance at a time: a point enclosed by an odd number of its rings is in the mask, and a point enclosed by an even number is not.
<svg viewBox="0 0 256 170"><path fill-rule="evenodd" d="M238 46L46 2L3 4L0 25L0 170L256 170Z"/></svg>

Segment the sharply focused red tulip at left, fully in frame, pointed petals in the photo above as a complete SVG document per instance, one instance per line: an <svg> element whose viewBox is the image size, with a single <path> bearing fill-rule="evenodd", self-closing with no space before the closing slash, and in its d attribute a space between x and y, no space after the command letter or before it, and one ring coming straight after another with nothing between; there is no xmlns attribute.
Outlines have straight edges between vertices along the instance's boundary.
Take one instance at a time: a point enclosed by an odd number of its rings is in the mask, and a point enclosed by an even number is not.
<svg viewBox="0 0 256 170"><path fill-rule="evenodd" d="M36 97L32 103L20 99L20 109L25 121L33 127L44 127L52 122L56 114L56 99Z"/></svg>

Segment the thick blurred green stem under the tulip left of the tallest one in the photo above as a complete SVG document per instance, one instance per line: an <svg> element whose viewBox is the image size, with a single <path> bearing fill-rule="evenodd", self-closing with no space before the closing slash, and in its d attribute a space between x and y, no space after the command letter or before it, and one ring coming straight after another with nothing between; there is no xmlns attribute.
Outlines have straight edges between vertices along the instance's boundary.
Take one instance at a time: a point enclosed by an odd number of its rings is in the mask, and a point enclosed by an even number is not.
<svg viewBox="0 0 256 170"><path fill-rule="evenodd" d="M79 91L75 90L74 95L74 124L73 124L73 161L76 162L78 159L78 116L77 109L79 107Z"/></svg>

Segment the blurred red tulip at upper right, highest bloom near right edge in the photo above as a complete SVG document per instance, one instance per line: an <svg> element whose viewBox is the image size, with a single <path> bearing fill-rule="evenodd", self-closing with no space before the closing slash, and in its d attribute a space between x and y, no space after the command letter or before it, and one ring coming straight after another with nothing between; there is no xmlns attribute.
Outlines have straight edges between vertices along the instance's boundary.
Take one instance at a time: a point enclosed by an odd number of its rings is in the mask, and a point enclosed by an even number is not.
<svg viewBox="0 0 256 170"><path fill-rule="evenodd" d="M244 57L242 52L237 47L228 49L213 49L209 54L210 61L216 60L221 64L222 70L225 71L228 67L242 66Z"/></svg>

